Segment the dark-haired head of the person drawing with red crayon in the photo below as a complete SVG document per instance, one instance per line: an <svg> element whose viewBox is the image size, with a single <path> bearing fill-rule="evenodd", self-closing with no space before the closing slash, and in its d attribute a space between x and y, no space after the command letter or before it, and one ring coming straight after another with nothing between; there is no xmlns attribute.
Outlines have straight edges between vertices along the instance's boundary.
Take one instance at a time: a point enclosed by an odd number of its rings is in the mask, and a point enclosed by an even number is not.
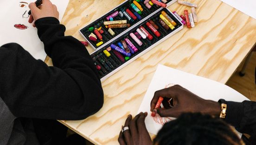
<svg viewBox="0 0 256 145"><path fill-rule="evenodd" d="M200 113L184 113L166 123L154 145L244 145L235 130L221 119Z"/></svg>

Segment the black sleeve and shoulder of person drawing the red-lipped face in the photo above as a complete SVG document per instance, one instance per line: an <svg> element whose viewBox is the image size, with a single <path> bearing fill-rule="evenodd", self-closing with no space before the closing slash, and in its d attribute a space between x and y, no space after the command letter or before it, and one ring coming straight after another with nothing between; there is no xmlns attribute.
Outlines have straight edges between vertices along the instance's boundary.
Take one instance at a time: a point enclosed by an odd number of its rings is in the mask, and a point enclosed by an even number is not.
<svg viewBox="0 0 256 145"><path fill-rule="evenodd" d="M16 117L81 120L103 105L94 63L77 39L64 36L58 19L35 22L55 67L35 60L19 44L0 48L0 97Z"/></svg>

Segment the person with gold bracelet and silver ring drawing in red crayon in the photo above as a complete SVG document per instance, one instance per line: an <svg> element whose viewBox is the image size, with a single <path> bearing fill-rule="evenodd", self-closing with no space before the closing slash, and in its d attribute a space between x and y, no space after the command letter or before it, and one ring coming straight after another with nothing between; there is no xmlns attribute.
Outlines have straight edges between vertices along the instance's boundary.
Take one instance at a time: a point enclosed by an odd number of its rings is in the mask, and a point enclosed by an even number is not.
<svg viewBox="0 0 256 145"><path fill-rule="evenodd" d="M154 109L159 96L166 98L164 108ZM178 119L166 123L152 142L145 126L147 113L134 119L129 115L118 138L120 145L256 145L255 101L205 100L175 85L156 91L150 105L161 117ZM239 139L227 123L250 138Z"/></svg>

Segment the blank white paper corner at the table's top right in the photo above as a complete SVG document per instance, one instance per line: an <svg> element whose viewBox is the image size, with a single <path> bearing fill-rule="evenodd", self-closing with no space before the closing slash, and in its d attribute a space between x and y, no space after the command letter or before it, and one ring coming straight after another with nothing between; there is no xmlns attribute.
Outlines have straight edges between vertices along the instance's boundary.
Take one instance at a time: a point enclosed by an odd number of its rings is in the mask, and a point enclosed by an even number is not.
<svg viewBox="0 0 256 145"><path fill-rule="evenodd" d="M256 0L221 0L224 3L256 19Z"/></svg>

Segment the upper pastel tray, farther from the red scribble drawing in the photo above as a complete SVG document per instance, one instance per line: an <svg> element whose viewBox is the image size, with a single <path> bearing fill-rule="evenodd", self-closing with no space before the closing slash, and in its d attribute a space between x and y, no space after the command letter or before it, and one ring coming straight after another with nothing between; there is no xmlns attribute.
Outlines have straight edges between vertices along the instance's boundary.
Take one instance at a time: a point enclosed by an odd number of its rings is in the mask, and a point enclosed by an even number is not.
<svg viewBox="0 0 256 145"><path fill-rule="evenodd" d="M153 0L126 0L109 13L86 25L80 30L80 34L92 48L101 49L162 8L151 1ZM166 6L170 6L177 0L162 1Z"/></svg>

